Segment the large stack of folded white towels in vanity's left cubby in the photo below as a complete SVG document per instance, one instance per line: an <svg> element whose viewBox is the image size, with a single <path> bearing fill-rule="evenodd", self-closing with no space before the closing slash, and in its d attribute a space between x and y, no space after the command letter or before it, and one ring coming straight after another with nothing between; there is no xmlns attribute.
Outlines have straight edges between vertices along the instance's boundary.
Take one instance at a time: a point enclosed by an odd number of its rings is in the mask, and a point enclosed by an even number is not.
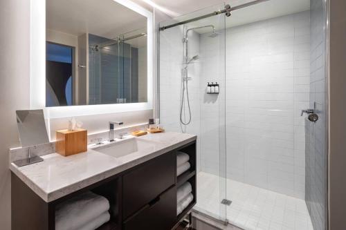
<svg viewBox="0 0 346 230"><path fill-rule="evenodd" d="M87 191L75 196L55 209L55 230L79 229L109 209L109 201Z"/></svg>

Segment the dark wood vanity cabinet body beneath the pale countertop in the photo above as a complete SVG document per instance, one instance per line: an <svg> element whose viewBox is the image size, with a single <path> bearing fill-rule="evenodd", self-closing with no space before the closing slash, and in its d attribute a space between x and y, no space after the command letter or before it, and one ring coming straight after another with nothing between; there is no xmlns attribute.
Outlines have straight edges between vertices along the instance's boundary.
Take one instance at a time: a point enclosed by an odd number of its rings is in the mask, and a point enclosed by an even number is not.
<svg viewBox="0 0 346 230"><path fill-rule="evenodd" d="M188 153L191 164L178 178L177 151ZM194 199L177 216L176 191L187 181ZM111 220L99 230L172 229L196 204L196 141L48 203L12 173L12 229L55 229L56 204L84 191L109 200Z"/></svg>

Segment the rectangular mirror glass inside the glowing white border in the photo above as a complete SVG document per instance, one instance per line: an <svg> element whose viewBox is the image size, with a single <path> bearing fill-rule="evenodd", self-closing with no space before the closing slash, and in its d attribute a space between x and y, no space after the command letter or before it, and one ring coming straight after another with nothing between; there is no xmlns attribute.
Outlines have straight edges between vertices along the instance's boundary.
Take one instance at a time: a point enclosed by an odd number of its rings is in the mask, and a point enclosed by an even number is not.
<svg viewBox="0 0 346 230"><path fill-rule="evenodd" d="M147 102L146 26L113 0L47 0L46 107Z"/></svg>

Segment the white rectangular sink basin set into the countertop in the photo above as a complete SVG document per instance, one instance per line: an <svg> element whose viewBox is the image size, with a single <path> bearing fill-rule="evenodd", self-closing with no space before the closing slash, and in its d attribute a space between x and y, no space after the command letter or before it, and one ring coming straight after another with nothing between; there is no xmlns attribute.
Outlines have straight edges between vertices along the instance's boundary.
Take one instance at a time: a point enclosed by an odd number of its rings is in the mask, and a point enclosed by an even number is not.
<svg viewBox="0 0 346 230"><path fill-rule="evenodd" d="M93 150L118 158L139 151L154 151L155 148L155 142L131 137L129 139L120 140L105 146L93 148Z"/></svg>

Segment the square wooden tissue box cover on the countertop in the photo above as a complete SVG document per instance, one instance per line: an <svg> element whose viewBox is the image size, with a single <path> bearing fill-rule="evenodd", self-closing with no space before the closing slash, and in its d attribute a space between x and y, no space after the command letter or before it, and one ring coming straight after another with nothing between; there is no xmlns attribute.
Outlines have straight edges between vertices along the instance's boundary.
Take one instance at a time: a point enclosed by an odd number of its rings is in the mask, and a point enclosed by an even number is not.
<svg viewBox="0 0 346 230"><path fill-rule="evenodd" d="M78 128L77 131L60 130L56 131L57 141L55 151L60 155L68 156L86 152L87 131Z"/></svg>

